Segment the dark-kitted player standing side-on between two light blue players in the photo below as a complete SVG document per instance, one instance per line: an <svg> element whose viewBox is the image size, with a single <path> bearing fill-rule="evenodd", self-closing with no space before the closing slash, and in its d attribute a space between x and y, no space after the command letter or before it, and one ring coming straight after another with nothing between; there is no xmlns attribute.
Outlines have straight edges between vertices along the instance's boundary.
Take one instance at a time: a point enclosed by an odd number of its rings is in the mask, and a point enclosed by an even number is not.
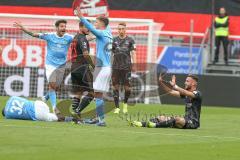
<svg viewBox="0 0 240 160"><path fill-rule="evenodd" d="M90 66L94 69L94 64L89 56L89 43L86 35L89 30L82 22L79 23L79 33L74 37L72 43L72 65L71 65L71 80L72 80L72 110L76 114L80 114L93 100L93 75ZM83 92L88 92L81 100Z"/></svg>

